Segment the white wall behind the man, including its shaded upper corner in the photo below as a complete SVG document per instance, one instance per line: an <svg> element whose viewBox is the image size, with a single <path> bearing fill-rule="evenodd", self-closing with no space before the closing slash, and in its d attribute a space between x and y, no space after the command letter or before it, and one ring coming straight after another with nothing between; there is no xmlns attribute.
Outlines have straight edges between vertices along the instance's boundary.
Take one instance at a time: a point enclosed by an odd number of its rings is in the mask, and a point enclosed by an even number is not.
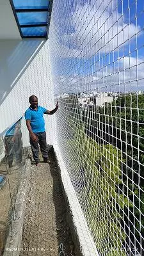
<svg viewBox="0 0 144 256"><path fill-rule="evenodd" d="M11 44L12 43L12 44ZM36 95L38 103L47 109L55 108L49 64L49 41L22 40L0 42L0 134L29 108L29 96ZM45 115L47 143L55 144L54 115ZM25 122L22 125L26 130ZM24 146L29 145L28 132Z"/></svg>

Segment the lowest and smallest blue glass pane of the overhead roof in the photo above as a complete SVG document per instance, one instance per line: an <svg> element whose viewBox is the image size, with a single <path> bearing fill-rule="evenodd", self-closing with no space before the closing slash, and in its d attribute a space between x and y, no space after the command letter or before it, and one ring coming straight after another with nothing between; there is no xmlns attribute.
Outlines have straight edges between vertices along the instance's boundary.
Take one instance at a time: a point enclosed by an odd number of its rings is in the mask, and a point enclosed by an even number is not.
<svg viewBox="0 0 144 256"><path fill-rule="evenodd" d="M21 28L24 36L46 36L47 27Z"/></svg>

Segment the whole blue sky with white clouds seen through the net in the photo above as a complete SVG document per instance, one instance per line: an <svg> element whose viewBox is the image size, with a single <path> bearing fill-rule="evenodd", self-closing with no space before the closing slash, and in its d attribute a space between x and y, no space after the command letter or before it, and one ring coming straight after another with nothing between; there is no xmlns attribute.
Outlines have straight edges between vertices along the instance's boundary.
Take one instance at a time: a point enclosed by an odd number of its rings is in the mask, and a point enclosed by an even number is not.
<svg viewBox="0 0 144 256"><path fill-rule="evenodd" d="M144 91L142 2L62 0L53 6L56 90Z"/></svg>

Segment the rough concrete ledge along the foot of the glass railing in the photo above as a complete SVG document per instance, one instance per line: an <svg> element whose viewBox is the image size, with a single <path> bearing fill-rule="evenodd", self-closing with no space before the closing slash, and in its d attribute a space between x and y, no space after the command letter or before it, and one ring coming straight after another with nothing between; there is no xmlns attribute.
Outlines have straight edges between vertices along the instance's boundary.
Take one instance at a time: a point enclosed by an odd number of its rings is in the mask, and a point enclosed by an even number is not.
<svg viewBox="0 0 144 256"><path fill-rule="evenodd" d="M24 223L24 213L26 209L26 196L28 191L28 182L31 171L31 161L26 159L26 166L24 173L22 174L22 180L20 182L19 191L17 193L17 200L15 202L15 220L12 221L12 230L10 230L6 244L4 247L3 256L19 256L20 245L22 241L22 230Z"/></svg>

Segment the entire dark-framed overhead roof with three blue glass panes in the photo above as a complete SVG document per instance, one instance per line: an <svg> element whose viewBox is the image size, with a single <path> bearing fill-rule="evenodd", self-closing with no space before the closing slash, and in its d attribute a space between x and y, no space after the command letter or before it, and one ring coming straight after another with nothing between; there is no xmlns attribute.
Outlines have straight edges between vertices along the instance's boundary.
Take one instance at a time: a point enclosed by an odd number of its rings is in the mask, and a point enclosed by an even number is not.
<svg viewBox="0 0 144 256"><path fill-rule="evenodd" d="M22 38L47 38L52 0L10 0L10 3Z"/></svg>

